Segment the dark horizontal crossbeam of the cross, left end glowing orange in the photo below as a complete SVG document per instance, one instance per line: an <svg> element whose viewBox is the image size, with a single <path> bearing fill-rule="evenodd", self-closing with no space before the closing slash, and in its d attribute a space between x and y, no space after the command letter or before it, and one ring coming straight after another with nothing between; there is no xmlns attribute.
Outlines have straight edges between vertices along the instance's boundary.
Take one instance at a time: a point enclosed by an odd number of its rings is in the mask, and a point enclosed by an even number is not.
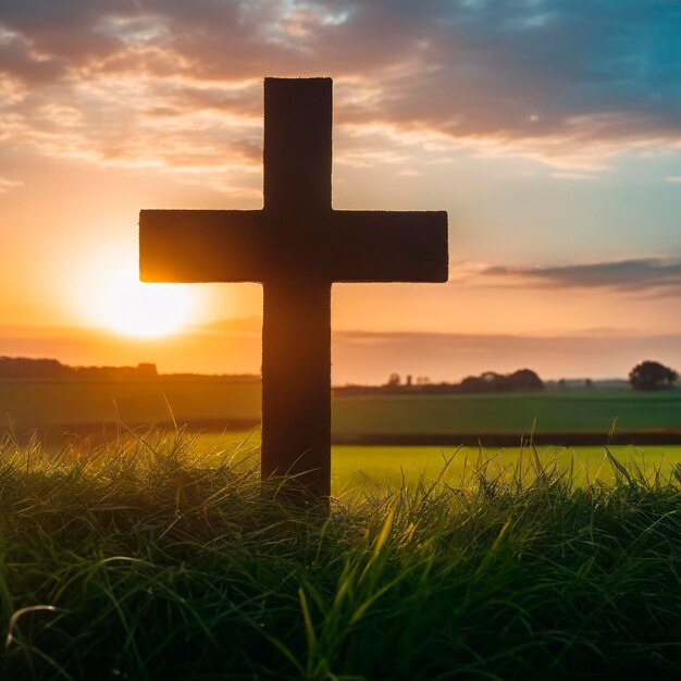
<svg viewBox="0 0 681 681"><path fill-rule="evenodd" d="M447 281L444 211L329 211L308 219L319 226L285 224L264 210L143 210L143 280Z"/></svg>

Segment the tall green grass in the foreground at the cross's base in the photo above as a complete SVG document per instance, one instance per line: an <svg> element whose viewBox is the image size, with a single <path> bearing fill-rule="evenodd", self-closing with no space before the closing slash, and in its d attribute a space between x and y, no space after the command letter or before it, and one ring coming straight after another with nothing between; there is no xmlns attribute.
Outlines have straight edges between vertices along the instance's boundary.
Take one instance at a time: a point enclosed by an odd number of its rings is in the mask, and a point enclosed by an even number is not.
<svg viewBox="0 0 681 681"><path fill-rule="evenodd" d="M681 674L678 467L483 461L324 519L182 434L0 449L0 678Z"/></svg>

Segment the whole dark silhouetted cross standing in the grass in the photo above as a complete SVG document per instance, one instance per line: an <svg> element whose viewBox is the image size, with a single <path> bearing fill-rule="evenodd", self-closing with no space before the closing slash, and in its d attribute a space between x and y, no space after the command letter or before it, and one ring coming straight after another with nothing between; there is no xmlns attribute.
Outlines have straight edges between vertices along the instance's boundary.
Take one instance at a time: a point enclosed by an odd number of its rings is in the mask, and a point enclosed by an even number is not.
<svg viewBox="0 0 681 681"><path fill-rule="evenodd" d="M263 480L331 494L331 285L446 282L445 211L334 210L331 78L264 79L264 207L143 210L145 282L261 282Z"/></svg>

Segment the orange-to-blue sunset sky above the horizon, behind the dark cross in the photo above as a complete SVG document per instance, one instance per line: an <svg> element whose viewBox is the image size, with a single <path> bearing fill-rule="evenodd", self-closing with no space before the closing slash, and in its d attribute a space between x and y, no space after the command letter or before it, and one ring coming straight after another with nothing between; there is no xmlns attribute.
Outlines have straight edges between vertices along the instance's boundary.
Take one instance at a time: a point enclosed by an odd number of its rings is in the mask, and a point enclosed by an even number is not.
<svg viewBox="0 0 681 681"><path fill-rule="evenodd" d="M449 215L447 284L334 286L335 383L681 369L678 0L0 0L0 355L259 371L260 286L135 268L261 207L264 76L333 77L335 208Z"/></svg>

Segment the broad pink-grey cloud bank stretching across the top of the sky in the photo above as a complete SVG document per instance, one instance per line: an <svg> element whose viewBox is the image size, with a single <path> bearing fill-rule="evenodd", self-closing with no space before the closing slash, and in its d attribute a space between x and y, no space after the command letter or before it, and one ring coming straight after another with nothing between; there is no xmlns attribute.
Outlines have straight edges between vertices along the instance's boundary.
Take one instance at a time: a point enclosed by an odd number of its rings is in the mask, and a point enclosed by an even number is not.
<svg viewBox="0 0 681 681"><path fill-rule="evenodd" d="M679 145L676 2L0 0L0 125L50 156L231 186L258 160L261 77L320 73L363 141L583 173Z"/></svg>

